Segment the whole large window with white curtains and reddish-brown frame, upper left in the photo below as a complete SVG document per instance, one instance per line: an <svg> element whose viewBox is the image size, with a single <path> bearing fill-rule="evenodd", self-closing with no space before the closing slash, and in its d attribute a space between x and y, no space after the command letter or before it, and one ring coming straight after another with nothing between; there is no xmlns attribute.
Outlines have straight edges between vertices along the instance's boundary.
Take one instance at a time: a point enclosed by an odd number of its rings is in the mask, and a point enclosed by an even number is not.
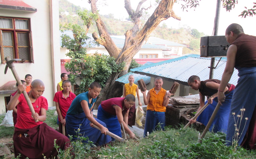
<svg viewBox="0 0 256 159"><path fill-rule="evenodd" d="M0 52L5 57L20 58L22 62L34 62L30 19L0 17Z"/></svg>

